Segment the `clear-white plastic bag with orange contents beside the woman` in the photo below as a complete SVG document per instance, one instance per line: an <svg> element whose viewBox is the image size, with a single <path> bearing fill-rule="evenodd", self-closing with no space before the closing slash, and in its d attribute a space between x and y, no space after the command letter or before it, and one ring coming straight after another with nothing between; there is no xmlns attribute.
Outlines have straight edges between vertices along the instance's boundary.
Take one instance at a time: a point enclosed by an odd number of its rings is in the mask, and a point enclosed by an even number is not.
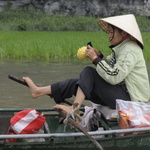
<svg viewBox="0 0 150 150"><path fill-rule="evenodd" d="M150 103L116 100L121 129L150 127Z"/></svg>

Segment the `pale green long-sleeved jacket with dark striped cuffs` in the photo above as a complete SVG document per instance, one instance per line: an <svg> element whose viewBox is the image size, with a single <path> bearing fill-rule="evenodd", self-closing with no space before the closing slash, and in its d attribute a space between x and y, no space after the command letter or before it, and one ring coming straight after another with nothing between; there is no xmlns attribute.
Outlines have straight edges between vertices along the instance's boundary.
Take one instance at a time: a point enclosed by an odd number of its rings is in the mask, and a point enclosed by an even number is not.
<svg viewBox="0 0 150 150"><path fill-rule="evenodd" d="M115 57L114 66L110 61ZM150 100L149 78L143 52L136 42L126 39L112 48L112 54L104 57L97 66L98 74L112 85L125 81L132 101Z"/></svg>

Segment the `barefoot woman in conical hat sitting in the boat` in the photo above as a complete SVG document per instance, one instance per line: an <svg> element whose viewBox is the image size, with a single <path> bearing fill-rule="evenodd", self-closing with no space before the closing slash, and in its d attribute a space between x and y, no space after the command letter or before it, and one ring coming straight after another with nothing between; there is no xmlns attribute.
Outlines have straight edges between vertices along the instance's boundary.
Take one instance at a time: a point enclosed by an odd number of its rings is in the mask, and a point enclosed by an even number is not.
<svg viewBox="0 0 150 150"><path fill-rule="evenodd" d="M74 103L79 106L87 99L111 109L116 108L116 99L149 101L149 79L142 53L144 44L135 16L108 17L99 19L98 24L108 35L111 55L104 56L88 45L86 56L95 68L85 67L77 79L38 87L29 77L23 77L33 98L48 94L57 103L54 108L67 113L72 110L72 106L59 103L73 95Z"/></svg>

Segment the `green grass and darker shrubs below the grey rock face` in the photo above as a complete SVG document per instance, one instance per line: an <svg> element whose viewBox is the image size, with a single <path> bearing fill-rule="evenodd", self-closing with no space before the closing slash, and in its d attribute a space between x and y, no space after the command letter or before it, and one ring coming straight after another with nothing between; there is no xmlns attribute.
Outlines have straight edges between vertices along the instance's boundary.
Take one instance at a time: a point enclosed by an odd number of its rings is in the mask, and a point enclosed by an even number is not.
<svg viewBox="0 0 150 150"><path fill-rule="evenodd" d="M78 48L88 42L107 55L109 43L97 24L98 18L6 9L0 13L0 58L76 60ZM145 44L144 57L150 60L150 19L136 19Z"/></svg>

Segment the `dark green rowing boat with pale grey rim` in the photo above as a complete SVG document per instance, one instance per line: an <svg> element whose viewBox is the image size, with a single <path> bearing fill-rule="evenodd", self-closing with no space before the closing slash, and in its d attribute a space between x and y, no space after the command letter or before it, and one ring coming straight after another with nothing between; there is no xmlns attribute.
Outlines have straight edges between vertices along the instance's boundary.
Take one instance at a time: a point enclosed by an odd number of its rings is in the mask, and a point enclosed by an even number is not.
<svg viewBox="0 0 150 150"><path fill-rule="evenodd" d="M26 109L26 108L25 108ZM53 149L96 149L95 145L75 128L60 123L60 115L53 108L36 109L46 117L46 125L36 134L8 135L8 120L16 113L25 109L0 109L0 150L53 150ZM83 108L81 108L83 109ZM5 115L6 114L6 115ZM6 121L7 120L7 121ZM116 120L99 118L103 131L88 132L104 150L149 150L150 127L134 129L114 129ZM141 133L141 134L136 134ZM6 142L15 139L16 142Z"/></svg>

